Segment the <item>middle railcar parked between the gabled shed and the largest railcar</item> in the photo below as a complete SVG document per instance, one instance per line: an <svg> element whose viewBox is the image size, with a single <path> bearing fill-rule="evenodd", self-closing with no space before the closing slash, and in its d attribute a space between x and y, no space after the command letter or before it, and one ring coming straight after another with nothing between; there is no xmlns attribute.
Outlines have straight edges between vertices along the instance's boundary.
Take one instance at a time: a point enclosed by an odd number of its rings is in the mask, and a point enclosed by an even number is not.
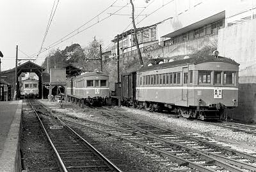
<svg viewBox="0 0 256 172"><path fill-rule="evenodd" d="M109 76L95 71L67 79L69 99L83 99L91 105L105 104L109 99Z"/></svg>

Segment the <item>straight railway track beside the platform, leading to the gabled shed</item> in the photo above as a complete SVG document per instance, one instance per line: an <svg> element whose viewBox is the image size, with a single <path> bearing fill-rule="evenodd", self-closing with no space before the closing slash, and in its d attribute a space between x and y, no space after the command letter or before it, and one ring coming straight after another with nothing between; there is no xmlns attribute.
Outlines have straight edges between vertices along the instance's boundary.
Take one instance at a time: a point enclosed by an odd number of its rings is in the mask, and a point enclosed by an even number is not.
<svg viewBox="0 0 256 172"><path fill-rule="evenodd" d="M46 134L61 171L121 171L60 118L29 100ZM38 114L39 113L39 114Z"/></svg>

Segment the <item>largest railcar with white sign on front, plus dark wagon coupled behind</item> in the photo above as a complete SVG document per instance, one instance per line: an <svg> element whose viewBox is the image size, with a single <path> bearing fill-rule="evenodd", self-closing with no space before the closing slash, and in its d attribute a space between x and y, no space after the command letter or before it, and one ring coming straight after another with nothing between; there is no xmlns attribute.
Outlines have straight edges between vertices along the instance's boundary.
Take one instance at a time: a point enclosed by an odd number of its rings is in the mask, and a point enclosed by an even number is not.
<svg viewBox="0 0 256 172"><path fill-rule="evenodd" d="M205 55L141 68L122 75L115 96L151 111L175 111L187 118L218 119L237 106L239 64Z"/></svg>

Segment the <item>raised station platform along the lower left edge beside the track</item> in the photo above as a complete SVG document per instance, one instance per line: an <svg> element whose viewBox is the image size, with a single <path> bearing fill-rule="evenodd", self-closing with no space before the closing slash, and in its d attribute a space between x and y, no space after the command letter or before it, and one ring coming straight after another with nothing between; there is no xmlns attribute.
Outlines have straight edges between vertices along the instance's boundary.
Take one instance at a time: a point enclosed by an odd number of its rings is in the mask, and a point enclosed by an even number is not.
<svg viewBox="0 0 256 172"><path fill-rule="evenodd" d="M0 171L20 169L22 101L0 101Z"/></svg>

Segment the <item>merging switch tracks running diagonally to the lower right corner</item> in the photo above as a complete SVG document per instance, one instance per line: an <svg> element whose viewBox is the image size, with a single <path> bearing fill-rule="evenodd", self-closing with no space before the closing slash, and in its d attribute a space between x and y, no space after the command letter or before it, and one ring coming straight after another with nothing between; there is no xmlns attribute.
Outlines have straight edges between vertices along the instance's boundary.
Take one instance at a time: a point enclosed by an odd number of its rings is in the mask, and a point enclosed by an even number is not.
<svg viewBox="0 0 256 172"><path fill-rule="evenodd" d="M134 120L118 111L105 109L101 112L118 120L120 123L118 127L81 118L79 120L84 124L70 120L68 122L168 157L172 161L179 162L180 166L191 168L189 169L191 171L256 171L255 155L237 152L203 138L177 133L138 119Z"/></svg>

